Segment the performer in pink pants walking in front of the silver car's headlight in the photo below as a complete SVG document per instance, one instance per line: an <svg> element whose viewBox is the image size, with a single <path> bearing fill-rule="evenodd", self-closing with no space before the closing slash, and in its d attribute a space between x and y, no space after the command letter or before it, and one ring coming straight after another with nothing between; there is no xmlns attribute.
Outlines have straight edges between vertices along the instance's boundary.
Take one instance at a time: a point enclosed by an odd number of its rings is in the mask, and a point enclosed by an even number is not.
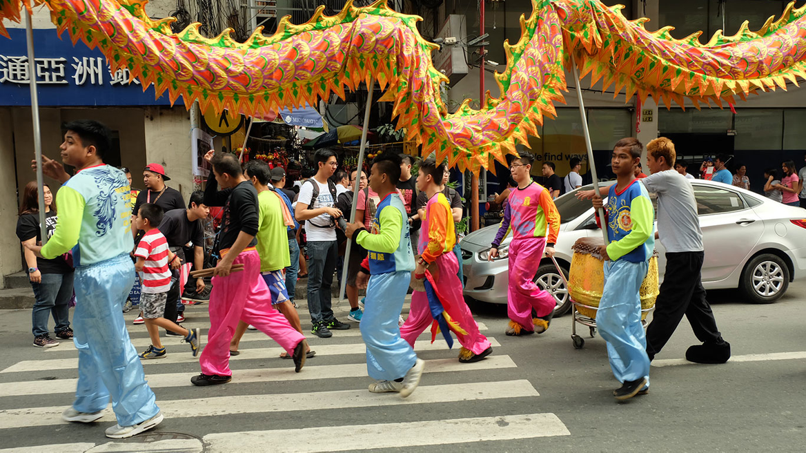
<svg viewBox="0 0 806 453"><path fill-rule="evenodd" d="M554 256L560 218L549 191L532 181L531 168L532 157L526 153L521 153L509 165L517 187L509 193L504 220L489 251L489 260L498 259L501 241L511 228L513 239L509 243L507 291L509 327L506 335L545 332L556 306L554 296L535 285L534 274L544 251L547 256ZM532 309L537 318L532 318Z"/></svg>

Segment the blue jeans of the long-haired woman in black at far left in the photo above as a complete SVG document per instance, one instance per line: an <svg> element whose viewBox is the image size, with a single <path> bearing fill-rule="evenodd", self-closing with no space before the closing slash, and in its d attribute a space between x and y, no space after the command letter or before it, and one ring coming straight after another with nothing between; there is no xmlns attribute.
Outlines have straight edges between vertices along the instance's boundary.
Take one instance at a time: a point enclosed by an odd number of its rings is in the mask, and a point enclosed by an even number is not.
<svg viewBox="0 0 806 453"><path fill-rule="evenodd" d="M42 274L40 283L31 282L34 289L34 310L31 315L35 337L48 334L48 316L53 314L56 333L69 328L69 303L73 297L73 272Z"/></svg>

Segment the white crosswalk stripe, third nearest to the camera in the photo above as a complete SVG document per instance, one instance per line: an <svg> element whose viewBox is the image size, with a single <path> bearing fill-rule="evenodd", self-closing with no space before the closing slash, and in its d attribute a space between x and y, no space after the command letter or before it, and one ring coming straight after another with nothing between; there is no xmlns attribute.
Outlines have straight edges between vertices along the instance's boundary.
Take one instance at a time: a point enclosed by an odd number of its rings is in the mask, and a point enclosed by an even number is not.
<svg viewBox="0 0 806 453"><path fill-rule="evenodd" d="M278 361L280 359L277 359ZM288 361L290 362L290 360ZM306 364L310 364L308 361ZM367 364L314 365L303 368L302 372L294 372L291 364L285 368L251 368L234 370L232 382L276 382L283 380L319 380L343 377L367 376ZM425 372L470 372L503 368L517 368L509 355L490 355L475 364L459 364L455 358L426 360ZM186 387L192 372L164 373L147 375L146 380L152 389L165 387ZM23 382L6 382L0 384L0 397L21 397L25 395L52 395L56 393L73 393L76 391L77 379L29 380Z"/></svg>

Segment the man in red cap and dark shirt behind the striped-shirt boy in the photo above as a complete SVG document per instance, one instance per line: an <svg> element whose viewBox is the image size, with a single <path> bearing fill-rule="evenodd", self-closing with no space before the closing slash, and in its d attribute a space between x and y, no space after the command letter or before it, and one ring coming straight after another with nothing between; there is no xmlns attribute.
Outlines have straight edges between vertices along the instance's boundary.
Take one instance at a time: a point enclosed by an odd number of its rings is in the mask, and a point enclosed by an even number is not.
<svg viewBox="0 0 806 453"><path fill-rule="evenodd" d="M146 189L137 195L135 206L131 209L131 232L135 235L135 247L137 247L140 238L143 237L143 232L135 227L135 218L140 206L145 203L154 203L156 206L160 206L163 212L185 209L185 199L182 198L182 194L177 189L172 189L165 185L165 181L170 181L170 179L165 175L165 168L160 164L147 164L146 168L143 169L143 183ZM186 262L185 252L181 247L172 248L172 251L179 255L182 262ZM185 321L185 317L182 316L185 306L181 305L181 301L174 302L170 303L168 301L165 304L164 318L177 323ZM135 324L143 324L142 315L135 319Z"/></svg>

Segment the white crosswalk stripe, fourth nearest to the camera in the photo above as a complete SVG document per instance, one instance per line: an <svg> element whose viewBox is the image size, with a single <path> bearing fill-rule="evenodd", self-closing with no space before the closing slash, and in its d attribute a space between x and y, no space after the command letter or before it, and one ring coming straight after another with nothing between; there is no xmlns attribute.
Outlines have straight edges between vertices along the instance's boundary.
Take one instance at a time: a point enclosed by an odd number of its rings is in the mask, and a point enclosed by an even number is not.
<svg viewBox="0 0 806 453"><path fill-rule="evenodd" d="M499 347L501 343L492 337L488 338L492 347ZM455 351L459 352L458 343L455 343ZM364 354L367 349L364 343L348 343L348 344L328 344L316 345L314 348L316 355L348 355L348 354ZM448 350L447 344L444 339L437 339L434 343L427 341L419 341L414 347L415 351L442 351ZM275 359L280 355L281 351L285 351L281 347L261 347L255 349L244 349L240 355L230 357L230 360L245 360L245 359ZM449 350L448 350L449 351ZM452 354L452 353L451 353ZM144 359L143 365L152 364L186 364L198 362L198 357L190 355L189 351L168 354L164 359ZM44 360L23 360L17 364L0 371L6 372L46 372L51 370L78 368L78 358L72 359L44 359Z"/></svg>

